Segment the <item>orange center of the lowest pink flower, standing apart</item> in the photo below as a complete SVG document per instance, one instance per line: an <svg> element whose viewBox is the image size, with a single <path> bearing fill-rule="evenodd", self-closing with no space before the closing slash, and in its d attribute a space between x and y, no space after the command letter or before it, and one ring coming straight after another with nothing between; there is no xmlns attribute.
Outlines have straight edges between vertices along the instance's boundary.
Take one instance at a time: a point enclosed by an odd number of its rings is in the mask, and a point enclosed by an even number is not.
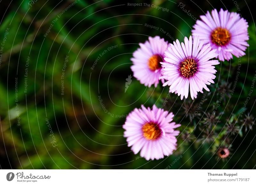
<svg viewBox="0 0 256 185"><path fill-rule="evenodd" d="M161 135L161 129L156 123L148 122L142 127L143 136L148 140L155 140Z"/></svg>

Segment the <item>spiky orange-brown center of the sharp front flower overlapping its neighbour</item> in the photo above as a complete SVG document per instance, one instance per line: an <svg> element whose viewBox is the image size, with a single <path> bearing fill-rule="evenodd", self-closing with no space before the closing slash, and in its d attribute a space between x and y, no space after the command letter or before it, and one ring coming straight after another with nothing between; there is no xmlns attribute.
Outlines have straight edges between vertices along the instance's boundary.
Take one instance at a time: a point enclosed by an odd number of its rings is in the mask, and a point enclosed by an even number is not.
<svg viewBox="0 0 256 185"><path fill-rule="evenodd" d="M187 58L180 64L180 74L189 78L193 76L197 69L197 63L193 58Z"/></svg>

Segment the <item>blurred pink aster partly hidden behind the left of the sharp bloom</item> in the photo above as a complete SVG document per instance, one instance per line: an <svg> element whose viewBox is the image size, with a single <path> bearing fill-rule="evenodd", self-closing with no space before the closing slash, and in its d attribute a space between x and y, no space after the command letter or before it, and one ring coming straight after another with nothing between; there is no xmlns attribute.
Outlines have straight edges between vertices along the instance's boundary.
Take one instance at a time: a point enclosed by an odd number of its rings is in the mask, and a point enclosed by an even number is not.
<svg viewBox="0 0 256 185"><path fill-rule="evenodd" d="M168 42L159 36L149 37L148 40L144 44L139 43L140 48L133 53L131 69L133 76L141 84L149 87L155 84L156 87L162 76L160 62L164 61L164 51L167 49ZM162 82L164 81L162 80Z"/></svg>

